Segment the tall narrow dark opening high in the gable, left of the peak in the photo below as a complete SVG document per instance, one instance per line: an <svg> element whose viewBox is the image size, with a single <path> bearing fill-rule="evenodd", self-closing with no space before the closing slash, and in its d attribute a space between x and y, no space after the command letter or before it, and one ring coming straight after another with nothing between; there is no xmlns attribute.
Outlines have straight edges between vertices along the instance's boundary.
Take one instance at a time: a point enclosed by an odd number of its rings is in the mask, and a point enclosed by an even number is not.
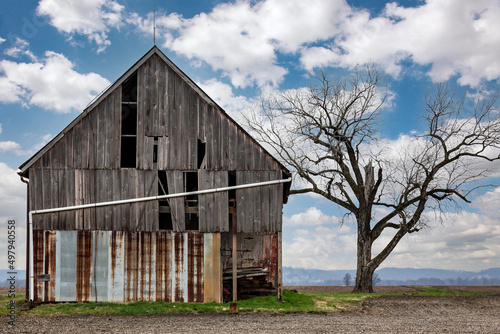
<svg viewBox="0 0 500 334"><path fill-rule="evenodd" d="M137 73L122 83L120 166L135 168L137 156Z"/></svg>

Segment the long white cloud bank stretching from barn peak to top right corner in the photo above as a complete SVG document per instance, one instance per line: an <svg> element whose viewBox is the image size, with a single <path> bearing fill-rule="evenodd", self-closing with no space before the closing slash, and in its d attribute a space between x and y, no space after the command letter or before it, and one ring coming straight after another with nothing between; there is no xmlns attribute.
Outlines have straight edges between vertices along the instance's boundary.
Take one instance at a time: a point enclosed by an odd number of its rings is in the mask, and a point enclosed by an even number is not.
<svg viewBox="0 0 500 334"><path fill-rule="evenodd" d="M496 0L392 2L377 17L344 0L262 0L223 3L192 18L160 13L156 23L165 47L221 71L236 87L279 85L288 73L279 54L298 54L309 71L375 62L393 76L410 61L429 66L434 81L456 75L477 86L500 77L499 15ZM152 13L127 21L152 33Z"/></svg>

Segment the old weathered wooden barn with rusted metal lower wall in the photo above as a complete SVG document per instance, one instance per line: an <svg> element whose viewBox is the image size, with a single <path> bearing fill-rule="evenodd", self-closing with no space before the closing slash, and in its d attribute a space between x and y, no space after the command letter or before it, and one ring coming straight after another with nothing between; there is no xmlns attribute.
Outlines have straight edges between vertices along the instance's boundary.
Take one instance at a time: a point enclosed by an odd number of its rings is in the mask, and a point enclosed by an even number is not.
<svg viewBox="0 0 500 334"><path fill-rule="evenodd" d="M281 288L290 172L156 46L19 169L29 300Z"/></svg>

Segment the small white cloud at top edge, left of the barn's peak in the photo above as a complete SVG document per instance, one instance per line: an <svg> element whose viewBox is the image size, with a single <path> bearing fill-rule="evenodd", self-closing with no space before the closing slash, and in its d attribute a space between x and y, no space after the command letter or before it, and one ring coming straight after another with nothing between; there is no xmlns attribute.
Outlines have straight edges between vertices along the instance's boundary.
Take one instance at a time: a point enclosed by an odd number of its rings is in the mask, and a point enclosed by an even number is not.
<svg viewBox="0 0 500 334"><path fill-rule="evenodd" d="M37 13L47 15L57 30L84 35L102 52L111 44L107 33L122 25L124 7L113 0L41 0Z"/></svg>

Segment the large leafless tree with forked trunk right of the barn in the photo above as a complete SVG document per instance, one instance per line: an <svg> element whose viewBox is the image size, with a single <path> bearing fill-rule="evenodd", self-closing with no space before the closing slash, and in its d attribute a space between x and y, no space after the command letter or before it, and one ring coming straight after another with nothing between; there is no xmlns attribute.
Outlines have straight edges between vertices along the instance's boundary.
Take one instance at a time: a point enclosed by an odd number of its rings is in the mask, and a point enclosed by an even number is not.
<svg viewBox="0 0 500 334"><path fill-rule="evenodd" d="M263 98L245 116L247 126L294 171L292 194L314 192L355 218L354 291L372 292L375 269L405 235L426 225L424 211L446 212L457 200L468 202L471 184L486 176L486 162L499 160L497 95L466 105L472 99L437 85L425 97L424 130L396 150L378 132L390 96L378 69L316 79L311 88ZM375 209L384 214L374 217ZM385 231L392 238L372 254Z"/></svg>

